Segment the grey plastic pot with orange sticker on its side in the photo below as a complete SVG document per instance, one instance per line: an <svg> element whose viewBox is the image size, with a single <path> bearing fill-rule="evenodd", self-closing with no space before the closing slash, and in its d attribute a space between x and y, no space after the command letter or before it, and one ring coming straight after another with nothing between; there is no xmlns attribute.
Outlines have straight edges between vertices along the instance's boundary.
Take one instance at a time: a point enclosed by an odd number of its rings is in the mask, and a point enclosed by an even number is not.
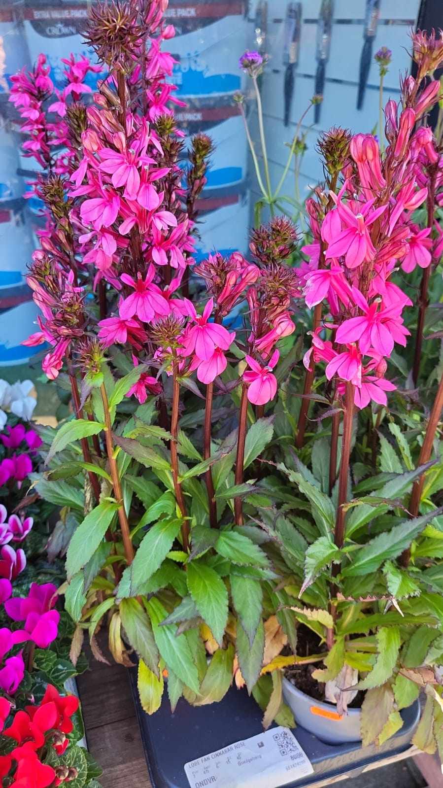
<svg viewBox="0 0 443 788"><path fill-rule="evenodd" d="M287 678L283 678L283 697L296 719L311 734L326 744L359 742L360 709L349 708L348 714L340 716L333 704L315 701L297 689Z"/></svg>

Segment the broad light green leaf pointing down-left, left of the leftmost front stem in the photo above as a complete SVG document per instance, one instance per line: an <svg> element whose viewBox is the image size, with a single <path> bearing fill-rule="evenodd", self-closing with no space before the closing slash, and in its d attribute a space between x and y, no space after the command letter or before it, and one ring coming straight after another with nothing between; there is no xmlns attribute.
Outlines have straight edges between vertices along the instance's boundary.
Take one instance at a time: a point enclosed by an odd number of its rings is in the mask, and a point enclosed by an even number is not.
<svg viewBox="0 0 443 788"><path fill-rule="evenodd" d="M84 521L74 531L66 553L66 574L70 580L76 572L83 569L99 547L102 538L118 509L118 504L103 501L89 512Z"/></svg>

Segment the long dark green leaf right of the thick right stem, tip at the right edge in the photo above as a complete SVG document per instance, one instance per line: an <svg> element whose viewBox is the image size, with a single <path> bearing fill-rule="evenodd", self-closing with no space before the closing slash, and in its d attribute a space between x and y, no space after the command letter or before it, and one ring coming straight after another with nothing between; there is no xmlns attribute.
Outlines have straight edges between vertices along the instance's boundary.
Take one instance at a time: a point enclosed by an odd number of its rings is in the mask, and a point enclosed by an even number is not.
<svg viewBox="0 0 443 788"><path fill-rule="evenodd" d="M441 515L442 511L443 508L435 509L422 517L404 520L391 530L380 533L367 545L352 552L352 563L344 567L341 574L349 578L376 571L384 561L400 556L400 553L409 547L411 541L419 536L426 524L435 516Z"/></svg>

